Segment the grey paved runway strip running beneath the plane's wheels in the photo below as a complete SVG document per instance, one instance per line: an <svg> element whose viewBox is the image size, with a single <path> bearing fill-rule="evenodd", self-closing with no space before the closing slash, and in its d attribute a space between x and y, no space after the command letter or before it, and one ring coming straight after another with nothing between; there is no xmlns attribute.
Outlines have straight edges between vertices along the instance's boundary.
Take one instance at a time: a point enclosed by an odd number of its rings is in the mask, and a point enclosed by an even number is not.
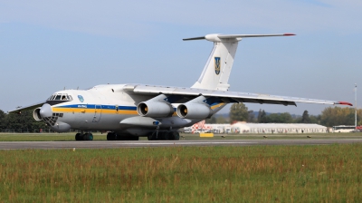
<svg viewBox="0 0 362 203"><path fill-rule="evenodd" d="M362 143L362 139L316 140L137 140L137 141L1 141L0 150L115 149L179 146L324 145Z"/></svg>

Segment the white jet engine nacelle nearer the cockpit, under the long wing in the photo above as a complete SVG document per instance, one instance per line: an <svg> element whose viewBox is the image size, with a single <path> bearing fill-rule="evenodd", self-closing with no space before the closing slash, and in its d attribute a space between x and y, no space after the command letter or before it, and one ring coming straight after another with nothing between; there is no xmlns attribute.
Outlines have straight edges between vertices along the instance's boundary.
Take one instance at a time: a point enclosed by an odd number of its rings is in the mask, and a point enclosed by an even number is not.
<svg viewBox="0 0 362 203"><path fill-rule="evenodd" d="M174 108L167 102L140 102L137 106L137 111L140 116L147 117L170 117L174 114Z"/></svg>

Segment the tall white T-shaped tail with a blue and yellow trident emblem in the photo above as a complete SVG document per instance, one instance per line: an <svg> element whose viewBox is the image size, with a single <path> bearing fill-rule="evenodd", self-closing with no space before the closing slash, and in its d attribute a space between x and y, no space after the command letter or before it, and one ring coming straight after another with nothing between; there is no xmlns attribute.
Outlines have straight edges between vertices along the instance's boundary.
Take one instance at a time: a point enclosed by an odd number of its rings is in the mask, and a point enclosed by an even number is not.
<svg viewBox="0 0 362 203"><path fill-rule="evenodd" d="M207 40L214 42L214 48L204 70L191 88L228 91L230 87L228 81L239 41L246 37L291 35L295 34L207 34L201 37L184 39L184 41Z"/></svg>

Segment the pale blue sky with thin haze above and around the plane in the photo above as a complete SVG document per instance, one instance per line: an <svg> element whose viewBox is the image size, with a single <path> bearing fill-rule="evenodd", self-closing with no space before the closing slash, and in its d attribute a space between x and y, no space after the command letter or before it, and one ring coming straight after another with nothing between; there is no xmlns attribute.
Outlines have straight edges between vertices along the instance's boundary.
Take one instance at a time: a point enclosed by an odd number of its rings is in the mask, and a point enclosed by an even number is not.
<svg viewBox="0 0 362 203"><path fill-rule="evenodd" d="M205 34L297 34L243 39L230 91L355 103L361 10L360 0L0 1L0 110L104 83L190 87L213 43L182 39ZM246 103L300 115L329 107L297 105Z"/></svg>

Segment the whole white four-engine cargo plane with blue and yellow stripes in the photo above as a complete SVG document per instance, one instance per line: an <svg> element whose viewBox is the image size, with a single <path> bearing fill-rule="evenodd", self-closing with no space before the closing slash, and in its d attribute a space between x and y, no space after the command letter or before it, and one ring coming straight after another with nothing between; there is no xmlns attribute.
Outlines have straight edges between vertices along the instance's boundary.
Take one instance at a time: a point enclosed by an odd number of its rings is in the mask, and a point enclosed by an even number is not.
<svg viewBox="0 0 362 203"><path fill-rule="evenodd" d="M207 40L214 48L204 70L190 87L156 86L138 83L101 84L89 90L54 92L46 101L18 108L33 111L52 131L80 131L75 140L93 140L91 131L108 131L107 140L179 140L178 130L210 118L227 103L252 102L296 105L296 102L343 104L275 96L230 92L228 83L238 43L243 38L291 36L295 34L207 34L188 40Z"/></svg>

